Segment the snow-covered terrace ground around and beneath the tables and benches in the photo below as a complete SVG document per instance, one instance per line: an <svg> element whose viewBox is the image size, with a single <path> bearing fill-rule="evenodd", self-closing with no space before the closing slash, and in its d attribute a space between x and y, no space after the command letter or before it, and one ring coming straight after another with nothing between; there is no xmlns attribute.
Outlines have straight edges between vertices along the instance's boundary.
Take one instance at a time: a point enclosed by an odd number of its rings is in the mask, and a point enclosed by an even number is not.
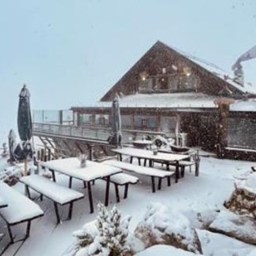
<svg viewBox="0 0 256 256"><path fill-rule="evenodd" d="M164 205L173 207L177 210L190 209L198 211L206 209L222 209L223 202L230 197L231 192L234 190L234 176L247 172L250 170L250 166L254 165L254 162L202 157L199 177L195 177L194 172L190 173L189 170L186 170L185 178L179 179L177 184L172 181L170 187L166 186L166 181L164 181L162 190L157 190L155 194L151 193L150 178L139 177L142 183L130 186L128 198L122 200L117 206L118 209L122 211L123 216L127 214L132 215L132 220L130 222L131 229L134 229L138 225L138 222L142 220L150 202L162 202ZM62 174L57 175L57 182L63 186L68 186L68 178ZM24 193L24 186L21 183L15 185L14 188L21 193ZM73 188L85 192L86 198L74 202L73 218L70 221L62 222L58 226L56 226L54 204L48 199L44 199L41 202L38 194L33 193L32 196L36 198L35 202L41 206L45 215L32 222L30 238L28 238L26 242L18 242L13 246L10 246L3 256L14 254L17 256L72 255L70 250L72 250L75 242L72 233L75 230L81 229L86 222L93 221L97 215L97 211L95 211L94 214L89 213L90 207L87 190L84 190L83 183L74 180ZM94 209L97 209L97 202L104 202L105 182L98 180L92 189ZM109 208L112 208L114 203L114 187L111 186ZM60 213L62 219L65 219L68 214L68 207L63 206ZM14 228L15 234L19 235L21 235L22 232L24 233L25 230L25 226L22 225ZM6 234L2 240L0 238L0 250L8 241L8 234L6 231L5 222L0 219L0 234ZM200 236L205 241L210 239L210 235L206 232L201 233ZM220 255L217 252L222 251L220 250L220 245L218 243L222 241L221 245L223 245L223 238L221 236L220 238L217 238L214 235L212 235L212 237L213 239L210 239L210 242L205 242L203 245L203 249L205 249L203 253L205 256ZM214 251L215 248L216 251ZM248 248L244 249L246 254L254 249L254 246ZM159 255L160 254L161 252L159 252ZM242 254L237 255L240 256Z"/></svg>

